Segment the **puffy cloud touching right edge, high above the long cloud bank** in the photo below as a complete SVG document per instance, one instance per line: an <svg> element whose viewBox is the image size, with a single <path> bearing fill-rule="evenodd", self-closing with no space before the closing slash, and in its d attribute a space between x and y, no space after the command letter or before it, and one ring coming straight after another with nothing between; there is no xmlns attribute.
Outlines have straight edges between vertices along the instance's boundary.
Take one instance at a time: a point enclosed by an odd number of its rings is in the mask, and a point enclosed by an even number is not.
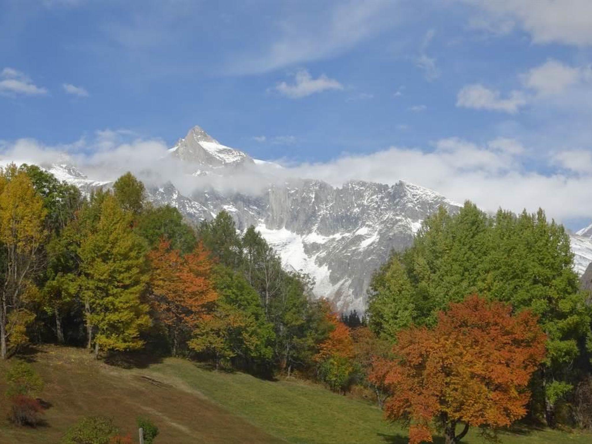
<svg viewBox="0 0 592 444"><path fill-rule="evenodd" d="M524 85L540 95L561 94L571 86L590 81L591 78L590 67L571 67L554 59L522 75Z"/></svg>

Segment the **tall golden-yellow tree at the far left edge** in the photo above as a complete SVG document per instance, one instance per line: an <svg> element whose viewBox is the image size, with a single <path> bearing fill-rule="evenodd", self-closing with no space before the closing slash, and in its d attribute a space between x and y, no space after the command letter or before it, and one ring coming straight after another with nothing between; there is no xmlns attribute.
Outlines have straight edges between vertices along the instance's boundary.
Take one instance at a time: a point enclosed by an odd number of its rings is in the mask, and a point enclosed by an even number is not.
<svg viewBox="0 0 592 444"><path fill-rule="evenodd" d="M46 239L43 200L16 165L0 169L0 358L26 340L34 315L25 308Z"/></svg>

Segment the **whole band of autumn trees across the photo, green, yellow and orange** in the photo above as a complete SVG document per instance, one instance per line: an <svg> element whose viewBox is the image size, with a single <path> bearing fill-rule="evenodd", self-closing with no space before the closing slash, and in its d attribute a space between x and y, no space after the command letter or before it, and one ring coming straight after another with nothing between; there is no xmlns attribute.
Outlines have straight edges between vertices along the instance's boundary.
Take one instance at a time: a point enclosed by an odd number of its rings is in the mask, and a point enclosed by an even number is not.
<svg viewBox="0 0 592 444"><path fill-rule="evenodd" d="M105 362L144 353L317 381L371 399L411 443L436 431L456 443L469 427L494 440L516 422L590 429L592 311L572 265L564 227L542 210L489 215L466 202L440 208L392 253L363 317L338 314L224 211L193 226L150 204L131 173L82 195L10 165L0 171L0 358L12 361L2 395L12 422L36 426L43 381L20 356L55 343ZM64 442L91 442L72 437L86 429L131 442L83 421Z"/></svg>

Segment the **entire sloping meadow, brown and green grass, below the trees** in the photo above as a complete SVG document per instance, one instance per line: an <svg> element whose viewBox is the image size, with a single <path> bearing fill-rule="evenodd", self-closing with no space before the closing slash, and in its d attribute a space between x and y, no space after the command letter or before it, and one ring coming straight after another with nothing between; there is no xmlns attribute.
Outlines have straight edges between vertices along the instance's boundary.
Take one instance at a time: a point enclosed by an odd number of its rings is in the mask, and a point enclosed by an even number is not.
<svg viewBox="0 0 592 444"><path fill-rule="evenodd" d="M94 361L85 350L51 346L32 358L46 381L41 397L52 404L47 425L36 430L15 427L0 412L2 444L57 443L70 424L88 414L112 416L133 436L136 417L149 416L161 431L156 444L407 442L406 431L385 422L377 407L310 382L264 381L172 358L121 369ZM6 363L0 362L0 392L5 390L5 369ZM504 433L501 440L584 444L592 442L592 435L522 430ZM442 439L436 437L435 442ZM463 442L483 441L473 430Z"/></svg>

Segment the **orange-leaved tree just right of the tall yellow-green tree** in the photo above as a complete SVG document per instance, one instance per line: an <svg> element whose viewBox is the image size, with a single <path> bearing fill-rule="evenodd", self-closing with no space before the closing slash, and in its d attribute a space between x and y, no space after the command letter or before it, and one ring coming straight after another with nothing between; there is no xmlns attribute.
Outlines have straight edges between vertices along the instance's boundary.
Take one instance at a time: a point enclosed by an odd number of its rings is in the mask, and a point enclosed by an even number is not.
<svg viewBox="0 0 592 444"><path fill-rule="evenodd" d="M179 250L171 249L168 240L161 240L149 253L150 304L168 329L173 355L180 341L213 313L218 294L209 256L201 243L191 253L181 255Z"/></svg>

